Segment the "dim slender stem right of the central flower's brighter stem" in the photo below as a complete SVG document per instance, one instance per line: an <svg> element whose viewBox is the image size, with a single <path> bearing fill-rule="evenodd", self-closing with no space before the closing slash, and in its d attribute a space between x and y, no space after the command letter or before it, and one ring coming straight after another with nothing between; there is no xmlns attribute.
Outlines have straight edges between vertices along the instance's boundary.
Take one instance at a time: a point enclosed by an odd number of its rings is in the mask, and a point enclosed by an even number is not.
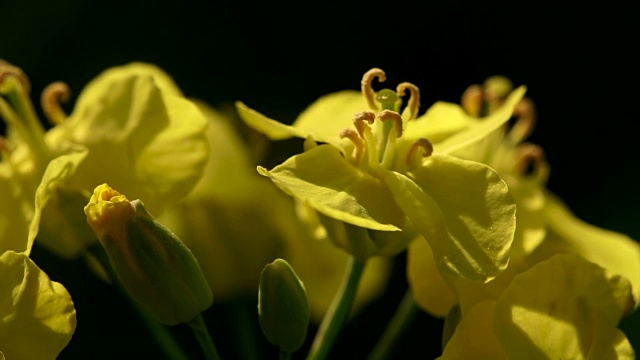
<svg viewBox="0 0 640 360"><path fill-rule="evenodd" d="M418 311L413 295L411 295L410 291L407 291L391 321L389 321L387 328L382 333L380 340L378 340L378 343L369 354L368 360L389 359L391 350L393 350L400 336L411 325Z"/></svg>

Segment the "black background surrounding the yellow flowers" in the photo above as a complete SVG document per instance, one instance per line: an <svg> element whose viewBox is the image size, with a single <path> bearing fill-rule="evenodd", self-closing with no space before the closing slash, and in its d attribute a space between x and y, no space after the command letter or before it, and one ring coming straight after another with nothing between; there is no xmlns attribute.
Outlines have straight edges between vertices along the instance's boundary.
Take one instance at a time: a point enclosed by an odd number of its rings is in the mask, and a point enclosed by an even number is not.
<svg viewBox="0 0 640 360"><path fill-rule="evenodd" d="M527 85L537 106L539 125L530 139L546 150L552 169L548 187L580 218L640 239L639 59L632 53L637 48L632 30L638 29L632 22L637 11L630 7L109 4L1 0L0 58L23 68L34 99L52 81L64 80L77 95L107 67L147 61L171 74L187 96L220 106L242 100L289 122L325 93L358 89L372 67L384 69L389 84L418 85L422 111L437 100L459 101L468 85L488 76L506 75L515 85ZM74 288L78 294L92 289L90 295L74 295L78 330L61 358L153 354L134 315L121 310L121 300L108 288L95 285L82 264L57 262L39 249L34 257L72 295ZM394 279L388 294L349 327L347 340L339 344L341 354L367 349L373 341L367 334L382 330L405 286L402 276ZM217 305L207 316L213 322L225 319L234 306ZM225 322L211 325L222 339L229 331L217 324ZM639 324L638 314L623 322L636 349ZM437 356L439 326L426 315L419 317L402 351L409 354L427 344L426 353L420 350L424 357ZM174 331L191 341L180 329ZM224 352L230 345L220 347Z"/></svg>

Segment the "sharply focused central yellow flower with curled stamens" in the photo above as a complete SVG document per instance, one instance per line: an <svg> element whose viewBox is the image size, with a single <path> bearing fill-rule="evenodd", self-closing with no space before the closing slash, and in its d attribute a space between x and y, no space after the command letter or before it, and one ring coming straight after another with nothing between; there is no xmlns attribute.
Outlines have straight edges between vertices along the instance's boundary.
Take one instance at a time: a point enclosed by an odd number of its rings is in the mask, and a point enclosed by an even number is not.
<svg viewBox="0 0 640 360"><path fill-rule="evenodd" d="M451 117L442 106L417 118L417 87L402 83L375 93L375 78L384 81L384 72L372 69L363 77L363 99L353 92L328 95L293 126L237 103L243 120L272 139L308 139L304 153L258 171L320 213L329 237L360 260L394 255L420 234L444 273L491 280L507 265L513 199L491 168L450 153L506 122L524 88L476 123L463 112ZM407 90L411 96L400 115ZM326 144L313 146L310 139Z"/></svg>

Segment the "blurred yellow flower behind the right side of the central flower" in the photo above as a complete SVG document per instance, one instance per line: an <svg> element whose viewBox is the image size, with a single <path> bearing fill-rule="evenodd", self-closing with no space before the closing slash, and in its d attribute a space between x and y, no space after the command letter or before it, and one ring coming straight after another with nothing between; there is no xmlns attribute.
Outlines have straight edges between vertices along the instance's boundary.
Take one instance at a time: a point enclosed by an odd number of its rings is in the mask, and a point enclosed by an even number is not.
<svg viewBox="0 0 640 360"><path fill-rule="evenodd" d="M463 105L470 114L480 108L495 111L509 88L508 80L492 78L484 89L470 87L463 97ZM530 100L524 99L518 104L516 117L517 121L510 129L494 132L483 142L455 153L485 162L509 185L517 206L517 226L509 267L488 284L444 279L433 270L433 256L423 244L414 242L411 244L413 251L410 251L407 274L418 304L440 317L459 304L464 316L480 302L495 301L517 274L554 254L574 253L627 279L632 288L629 301L637 307L640 299L640 245L623 234L586 224L545 188L549 165L542 149L523 142L535 122Z"/></svg>

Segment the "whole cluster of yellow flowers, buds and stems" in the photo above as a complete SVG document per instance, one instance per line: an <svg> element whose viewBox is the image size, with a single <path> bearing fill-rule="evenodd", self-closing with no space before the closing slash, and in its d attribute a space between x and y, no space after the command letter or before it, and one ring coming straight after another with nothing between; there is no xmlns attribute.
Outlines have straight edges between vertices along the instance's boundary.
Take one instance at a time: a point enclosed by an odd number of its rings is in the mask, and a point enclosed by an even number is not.
<svg viewBox="0 0 640 360"><path fill-rule="evenodd" d="M526 88L493 77L420 114L417 86L374 90L385 80L371 69L360 91L285 125L242 102L231 114L188 99L161 69L131 63L92 80L69 115L67 86L48 86L45 125L27 76L0 62L0 358L55 358L75 331L74 294L30 259L34 244L85 258L172 358L183 355L164 325L188 324L218 359L201 313L257 296L281 358L314 324L308 358L324 359L401 254L408 304L445 319L429 339L442 359L634 358L618 324L640 303L640 245L546 189ZM236 116L303 151L260 166Z"/></svg>

